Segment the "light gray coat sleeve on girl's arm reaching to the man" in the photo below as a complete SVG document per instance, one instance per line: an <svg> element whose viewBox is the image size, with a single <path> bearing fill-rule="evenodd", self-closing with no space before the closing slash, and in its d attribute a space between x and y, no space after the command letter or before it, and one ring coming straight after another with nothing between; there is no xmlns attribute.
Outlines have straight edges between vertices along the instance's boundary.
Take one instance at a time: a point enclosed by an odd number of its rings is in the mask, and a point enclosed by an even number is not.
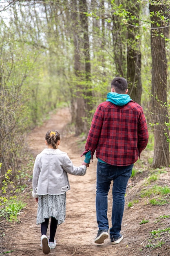
<svg viewBox="0 0 170 256"><path fill-rule="evenodd" d="M68 155L65 155L64 162L63 162L63 169L66 171L66 173L70 173L72 175L79 175L83 176L86 174L86 165L81 165L79 167L76 167L71 162L71 159L68 157Z"/></svg>

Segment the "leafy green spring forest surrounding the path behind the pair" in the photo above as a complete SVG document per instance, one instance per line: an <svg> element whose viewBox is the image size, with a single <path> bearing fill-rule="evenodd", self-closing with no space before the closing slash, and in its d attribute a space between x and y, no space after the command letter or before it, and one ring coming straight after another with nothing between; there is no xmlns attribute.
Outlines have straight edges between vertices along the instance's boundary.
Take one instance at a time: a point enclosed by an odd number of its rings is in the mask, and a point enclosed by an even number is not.
<svg viewBox="0 0 170 256"><path fill-rule="evenodd" d="M169 27L170 0L1 0L1 186L21 182L26 136L56 109L86 137L115 76L144 109L152 168L168 167Z"/></svg>

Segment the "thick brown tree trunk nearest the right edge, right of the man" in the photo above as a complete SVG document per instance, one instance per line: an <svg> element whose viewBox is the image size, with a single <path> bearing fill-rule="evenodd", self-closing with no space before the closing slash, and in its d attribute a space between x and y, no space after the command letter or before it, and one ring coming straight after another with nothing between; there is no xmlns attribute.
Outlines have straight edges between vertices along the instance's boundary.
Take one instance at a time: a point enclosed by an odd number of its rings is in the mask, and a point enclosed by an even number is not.
<svg viewBox="0 0 170 256"><path fill-rule="evenodd" d="M167 110L167 59L165 26L161 15L164 12L163 5L149 6L151 15L151 54L152 54L152 110L154 126L154 158L152 168L169 166L169 143L166 141L169 135L165 122L169 122ZM154 13L154 15L153 15ZM161 14L160 14L161 13ZM156 28L156 29L153 29Z"/></svg>

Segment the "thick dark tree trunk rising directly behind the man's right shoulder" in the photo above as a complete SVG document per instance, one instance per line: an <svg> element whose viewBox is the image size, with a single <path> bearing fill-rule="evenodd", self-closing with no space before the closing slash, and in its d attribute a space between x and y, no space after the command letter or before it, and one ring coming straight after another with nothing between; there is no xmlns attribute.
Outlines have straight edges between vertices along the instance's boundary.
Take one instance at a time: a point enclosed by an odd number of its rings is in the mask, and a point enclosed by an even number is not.
<svg viewBox="0 0 170 256"><path fill-rule="evenodd" d="M136 16L138 20L130 18L128 23L127 40L127 80L128 94L133 101L141 105L141 49L140 49L140 31L139 24L140 5L136 0L128 1L128 8L131 16ZM136 25L136 27L134 27ZM139 35L139 36L138 36ZM138 37L137 37L138 36ZM137 39L136 39L137 38Z"/></svg>

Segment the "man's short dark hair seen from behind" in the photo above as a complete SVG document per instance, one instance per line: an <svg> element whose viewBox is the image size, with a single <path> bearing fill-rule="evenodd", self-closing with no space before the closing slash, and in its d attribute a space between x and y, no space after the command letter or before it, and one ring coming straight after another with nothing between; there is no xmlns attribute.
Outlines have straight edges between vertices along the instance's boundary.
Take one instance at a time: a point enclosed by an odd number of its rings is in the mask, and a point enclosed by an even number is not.
<svg viewBox="0 0 170 256"><path fill-rule="evenodd" d="M128 83L123 77L115 77L111 81L111 88L115 89L115 92L124 94L128 88Z"/></svg>

